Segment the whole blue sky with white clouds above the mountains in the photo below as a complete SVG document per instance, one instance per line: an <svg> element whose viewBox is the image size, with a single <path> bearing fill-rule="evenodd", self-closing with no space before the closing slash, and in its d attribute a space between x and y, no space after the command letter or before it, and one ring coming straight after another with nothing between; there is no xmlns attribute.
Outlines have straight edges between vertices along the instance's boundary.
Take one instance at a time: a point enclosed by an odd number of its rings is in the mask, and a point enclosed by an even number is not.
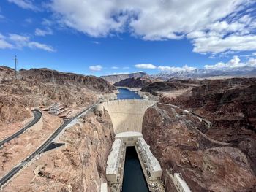
<svg viewBox="0 0 256 192"><path fill-rule="evenodd" d="M0 65L96 76L256 67L255 0L1 0Z"/></svg>

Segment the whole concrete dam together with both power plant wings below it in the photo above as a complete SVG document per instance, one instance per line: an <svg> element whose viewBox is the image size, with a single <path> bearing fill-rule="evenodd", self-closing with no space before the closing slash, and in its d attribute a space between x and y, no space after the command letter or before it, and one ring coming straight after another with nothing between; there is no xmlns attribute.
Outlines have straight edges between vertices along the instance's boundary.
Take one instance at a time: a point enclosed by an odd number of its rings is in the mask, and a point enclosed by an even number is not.
<svg viewBox="0 0 256 192"><path fill-rule="evenodd" d="M106 170L111 191L121 191L127 146L135 146L150 191L164 191L160 180L161 166L141 134L145 111L155 103L156 101L129 99L107 101L95 107L97 111L108 111L116 134Z"/></svg>

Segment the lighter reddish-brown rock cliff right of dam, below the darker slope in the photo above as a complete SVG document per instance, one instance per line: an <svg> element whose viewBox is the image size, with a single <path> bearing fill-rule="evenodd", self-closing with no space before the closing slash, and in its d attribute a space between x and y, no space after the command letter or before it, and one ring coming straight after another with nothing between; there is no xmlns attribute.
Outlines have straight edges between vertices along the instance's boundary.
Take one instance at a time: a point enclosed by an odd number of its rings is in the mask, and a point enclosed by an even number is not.
<svg viewBox="0 0 256 192"><path fill-rule="evenodd" d="M159 104L146 111L143 136L164 170L166 191L176 191L166 169L181 173L192 191L255 191L252 157L231 141L208 137L205 129L197 118L170 106ZM242 134L252 135L251 144L256 139L252 131Z"/></svg>

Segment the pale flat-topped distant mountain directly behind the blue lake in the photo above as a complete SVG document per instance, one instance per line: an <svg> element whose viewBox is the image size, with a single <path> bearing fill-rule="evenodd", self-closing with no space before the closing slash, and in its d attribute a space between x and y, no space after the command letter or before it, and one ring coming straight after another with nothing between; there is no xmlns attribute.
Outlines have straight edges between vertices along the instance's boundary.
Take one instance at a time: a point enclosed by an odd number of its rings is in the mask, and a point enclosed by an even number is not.
<svg viewBox="0 0 256 192"><path fill-rule="evenodd" d="M115 83L121 80L129 79L129 78L139 78L139 77L147 77L148 74L145 72L137 72L137 73L129 73L129 74L113 74L101 76L104 80L107 80L110 83Z"/></svg>

